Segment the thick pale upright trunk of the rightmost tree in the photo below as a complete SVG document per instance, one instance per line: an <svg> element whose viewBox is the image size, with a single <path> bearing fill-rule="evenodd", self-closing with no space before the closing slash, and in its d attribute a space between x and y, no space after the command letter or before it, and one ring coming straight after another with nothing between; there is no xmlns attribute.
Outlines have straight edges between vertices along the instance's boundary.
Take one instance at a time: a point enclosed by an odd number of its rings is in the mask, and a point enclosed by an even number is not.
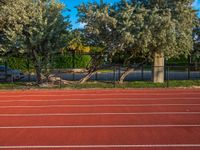
<svg viewBox="0 0 200 150"><path fill-rule="evenodd" d="M164 83L164 54L162 52L154 53L154 65L152 77L154 83Z"/></svg>

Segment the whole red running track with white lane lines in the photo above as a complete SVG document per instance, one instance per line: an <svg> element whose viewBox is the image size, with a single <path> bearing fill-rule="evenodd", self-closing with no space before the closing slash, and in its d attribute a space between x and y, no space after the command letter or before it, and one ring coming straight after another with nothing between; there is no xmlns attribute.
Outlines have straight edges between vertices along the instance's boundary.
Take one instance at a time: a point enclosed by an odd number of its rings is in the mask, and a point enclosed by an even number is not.
<svg viewBox="0 0 200 150"><path fill-rule="evenodd" d="M200 90L1 91L0 149L200 150Z"/></svg>

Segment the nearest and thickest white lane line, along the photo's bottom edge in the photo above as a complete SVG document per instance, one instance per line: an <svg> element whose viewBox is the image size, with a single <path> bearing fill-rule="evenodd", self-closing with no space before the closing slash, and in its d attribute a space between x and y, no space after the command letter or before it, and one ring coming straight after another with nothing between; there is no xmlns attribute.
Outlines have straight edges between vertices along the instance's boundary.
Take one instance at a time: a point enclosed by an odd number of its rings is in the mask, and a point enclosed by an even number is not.
<svg viewBox="0 0 200 150"><path fill-rule="evenodd" d="M199 148L200 144L141 144L141 145L29 145L0 146L0 149L60 149L60 148Z"/></svg>

